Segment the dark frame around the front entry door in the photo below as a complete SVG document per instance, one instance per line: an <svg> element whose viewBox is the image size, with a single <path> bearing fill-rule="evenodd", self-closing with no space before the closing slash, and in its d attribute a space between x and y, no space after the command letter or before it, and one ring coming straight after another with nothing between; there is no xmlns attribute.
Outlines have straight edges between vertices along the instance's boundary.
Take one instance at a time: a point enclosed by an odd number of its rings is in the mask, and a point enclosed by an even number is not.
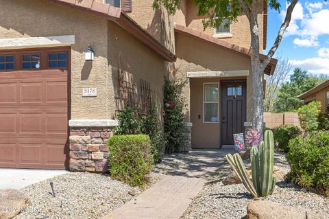
<svg viewBox="0 0 329 219"><path fill-rule="evenodd" d="M247 119L247 80L246 79L221 80L221 95L220 95L221 109L220 109L220 118L219 118L220 119L219 121L221 123L221 134L220 134L221 135L221 141L220 141L221 148L223 146L223 138L224 138L223 126L225 124L225 123L223 123L223 116L226 116L226 115L224 115L224 113L225 113L224 106L226 106L226 104L224 104L224 101L226 101L226 93L227 93L226 84L234 83L234 82L243 84L242 96L243 96L243 108L245 108L245 111L243 112L242 120L245 122ZM227 119L226 119L226 123L227 123ZM244 132L245 131L244 124L242 124L242 127L243 127L243 132Z"/></svg>

